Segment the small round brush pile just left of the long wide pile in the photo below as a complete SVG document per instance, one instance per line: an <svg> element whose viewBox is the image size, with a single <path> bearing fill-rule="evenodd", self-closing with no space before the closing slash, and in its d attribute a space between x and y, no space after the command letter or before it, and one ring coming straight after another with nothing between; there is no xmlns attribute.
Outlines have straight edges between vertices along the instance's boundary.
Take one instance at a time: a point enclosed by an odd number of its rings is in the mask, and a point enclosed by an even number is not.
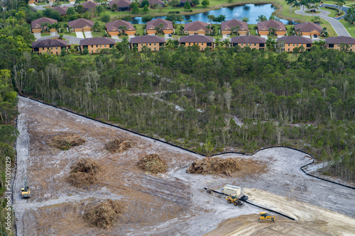
<svg viewBox="0 0 355 236"><path fill-rule="evenodd" d="M141 157L137 163L140 169L152 174L164 173L167 171L168 166L165 161L159 157L158 154L148 154Z"/></svg>

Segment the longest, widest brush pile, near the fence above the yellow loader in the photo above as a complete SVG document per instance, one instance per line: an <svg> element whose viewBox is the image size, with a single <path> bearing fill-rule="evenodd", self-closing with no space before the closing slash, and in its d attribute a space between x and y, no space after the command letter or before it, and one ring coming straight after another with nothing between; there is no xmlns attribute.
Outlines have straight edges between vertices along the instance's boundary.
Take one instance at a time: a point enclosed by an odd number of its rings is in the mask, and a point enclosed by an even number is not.
<svg viewBox="0 0 355 236"><path fill-rule="evenodd" d="M231 176L236 172L252 174L265 169L261 164L251 159L204 157L192 162L186 170L189 174L225 174Z"/></svg>

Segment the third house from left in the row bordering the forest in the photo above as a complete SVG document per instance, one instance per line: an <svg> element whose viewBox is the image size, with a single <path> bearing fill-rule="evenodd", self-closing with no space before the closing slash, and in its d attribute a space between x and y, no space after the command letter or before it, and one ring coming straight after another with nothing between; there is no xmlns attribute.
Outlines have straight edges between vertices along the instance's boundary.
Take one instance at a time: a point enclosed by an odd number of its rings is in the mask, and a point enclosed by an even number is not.
<svg viewBox="0 0 355 236"><path fill-rule="evenodd" d="M131 48L138 48L138 52L141 52L142 48L146 46L152 51L163 50L165 46L165 40L163 37L156 35L143 35L131 38Z"/></svg>

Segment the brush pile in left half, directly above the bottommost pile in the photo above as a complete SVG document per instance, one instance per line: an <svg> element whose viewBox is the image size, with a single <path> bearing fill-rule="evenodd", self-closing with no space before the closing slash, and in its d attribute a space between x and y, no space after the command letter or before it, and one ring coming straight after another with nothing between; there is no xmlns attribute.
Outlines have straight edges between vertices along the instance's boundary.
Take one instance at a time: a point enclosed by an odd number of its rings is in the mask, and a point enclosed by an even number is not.
<svg viewBox="0 0 355 236"><path fill-rule="evenodd" d="M82 158L70 167L67 182L75 187L89 186L97 182L96 174L101 167L92 159Z"/></svg>

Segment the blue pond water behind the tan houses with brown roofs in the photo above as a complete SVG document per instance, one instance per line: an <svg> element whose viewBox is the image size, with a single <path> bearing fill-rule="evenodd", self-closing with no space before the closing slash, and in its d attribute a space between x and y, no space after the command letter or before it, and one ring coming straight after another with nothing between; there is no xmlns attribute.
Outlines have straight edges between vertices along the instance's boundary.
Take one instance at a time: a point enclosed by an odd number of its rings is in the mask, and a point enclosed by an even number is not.
<svg viewBox="0 0 355 236"><path fill-rule="evenodd" d="M179 9L177 9L178 11ZM214 16L219 16L219 15L224 15L226 16L226 21L229 21L231 19L240 19L244 17L249 17L249 24L256 24L258 21L256 19L258 18L259 15L264 15L266 18L269 18L271 14L276 10L276 8L272 4L246 4L244 6L229 6L229 7L222 7L221 9L218 10L212 10L212 11L207 11L203 13L198 13L194 15L187 15L187 16L182 16L182 18L185 19L185 21L203 21L208 23L207 16L208 15L214 15ZM183 11L183 8L181 9ZM158 16L153 18L165 18L165 16ZM292 21L286 21L283 19L280 19L281 22L284 24L293 24ZM135 17L132 19L131 23L135 24L141 24L144 23L142 22L141 17ZM183 22L182 22L183 23Z"/></svg>

